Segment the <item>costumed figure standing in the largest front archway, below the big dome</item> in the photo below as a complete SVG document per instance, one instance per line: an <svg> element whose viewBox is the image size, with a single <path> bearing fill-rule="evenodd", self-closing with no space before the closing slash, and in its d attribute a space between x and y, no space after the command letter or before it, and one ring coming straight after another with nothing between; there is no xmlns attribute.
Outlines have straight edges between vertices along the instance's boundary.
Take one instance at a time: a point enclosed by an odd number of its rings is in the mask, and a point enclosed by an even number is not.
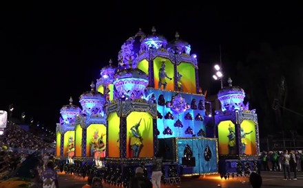
<svg viewBox="0 0 303 188"><path fill-rule="evenodd" d="M132 157L139 157L139 151L140 151L140 148L142 145L142 142L141 142L142 137L139 133L139 126L140 126L141 120L142 120L142 118L140 119L138 124L135 124L130 129L130 130L132 130L132 137L130 139L130 145L132 147Z"/></svg>

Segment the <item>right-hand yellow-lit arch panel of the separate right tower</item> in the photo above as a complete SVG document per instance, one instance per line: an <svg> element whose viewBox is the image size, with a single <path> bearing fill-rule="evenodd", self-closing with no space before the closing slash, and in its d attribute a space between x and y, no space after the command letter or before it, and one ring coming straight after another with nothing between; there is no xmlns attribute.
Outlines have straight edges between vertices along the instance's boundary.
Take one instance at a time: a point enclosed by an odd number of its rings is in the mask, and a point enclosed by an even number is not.
<svg viewBox="0 0 303 188"><path fill-rule="evenodd" d="M241 144L245 145L244 154L257 154L257 144L255 139L255 123L251 120L243 120L240 126L242 128Z"/></svg>

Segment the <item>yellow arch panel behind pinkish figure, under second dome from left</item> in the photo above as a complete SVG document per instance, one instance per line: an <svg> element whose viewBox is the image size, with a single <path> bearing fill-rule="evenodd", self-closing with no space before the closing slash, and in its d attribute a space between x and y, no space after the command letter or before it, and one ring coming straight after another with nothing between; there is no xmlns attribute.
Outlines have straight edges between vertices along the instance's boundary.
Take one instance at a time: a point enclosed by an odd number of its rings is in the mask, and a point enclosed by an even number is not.
<svg viewBox="0 0 303 188"><path fill-rule="evenodd" d="M102 139L103 143L106 145L106 127L103 124L91 124L86 130L86 156L92 155L92 143L97 140Z"/></svg>

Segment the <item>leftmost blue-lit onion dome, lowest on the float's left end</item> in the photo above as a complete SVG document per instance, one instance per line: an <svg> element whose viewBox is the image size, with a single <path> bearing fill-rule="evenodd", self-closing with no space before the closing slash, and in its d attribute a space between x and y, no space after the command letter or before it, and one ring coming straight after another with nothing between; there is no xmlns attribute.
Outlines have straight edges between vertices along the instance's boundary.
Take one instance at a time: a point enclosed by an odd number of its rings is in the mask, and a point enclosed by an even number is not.
<svg viewBox="0 0 303 188"><path fill-rule="evenodd" d="M61 123L63 124L74 123L76 116L79 115L80 112L81 109L78 106L72 104L72 97L70 97L70 104L64 105L60 110L60 114L63 121Z"/></svg>

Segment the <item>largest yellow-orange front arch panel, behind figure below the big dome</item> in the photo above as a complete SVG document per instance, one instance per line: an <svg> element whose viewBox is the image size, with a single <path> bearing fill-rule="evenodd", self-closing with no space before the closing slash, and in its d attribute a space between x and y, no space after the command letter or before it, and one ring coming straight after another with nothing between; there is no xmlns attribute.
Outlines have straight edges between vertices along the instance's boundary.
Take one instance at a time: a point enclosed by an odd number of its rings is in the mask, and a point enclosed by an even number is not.
<svg viewBox="0 0 303 188"><path fill-rule="evenodd" d="M141 119L141 121L140 121ZM131 139L133 137L131 128L138 124L138 134L142 137L140 139L142 145L140 148L139 157L153 157L154 156L154 131L153 119L149 113L132 112L127 116L127 157L132 157Z"/></svg>

